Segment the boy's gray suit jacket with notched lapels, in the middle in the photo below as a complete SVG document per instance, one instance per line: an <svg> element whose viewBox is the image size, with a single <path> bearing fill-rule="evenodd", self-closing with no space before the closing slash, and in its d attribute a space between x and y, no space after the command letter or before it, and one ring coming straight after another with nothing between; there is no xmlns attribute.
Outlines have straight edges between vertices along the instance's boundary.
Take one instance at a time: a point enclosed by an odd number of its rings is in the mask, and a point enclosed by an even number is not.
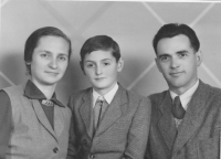
<svg viewBox="0 0 221 159"><path fill-rule="evenodd" d="M93 137L92 88L73 94L73 112L67 158L144 159L150 100L120 85Z"/></svg>

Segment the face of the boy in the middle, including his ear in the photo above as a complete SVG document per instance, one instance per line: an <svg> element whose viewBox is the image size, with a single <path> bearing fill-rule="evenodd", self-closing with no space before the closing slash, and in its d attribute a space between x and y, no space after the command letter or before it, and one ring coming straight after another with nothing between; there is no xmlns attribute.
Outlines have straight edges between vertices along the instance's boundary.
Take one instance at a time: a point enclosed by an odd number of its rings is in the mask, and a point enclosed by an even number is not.
<svg viewBox="0 0 221 159"><path fill-rule="evenodd" d="M109 92L117 82L117 73L123 70L124 62L113 56L110 51L93 51L85 55L82 63L85 75L94 89L104 95Z"/></svg>

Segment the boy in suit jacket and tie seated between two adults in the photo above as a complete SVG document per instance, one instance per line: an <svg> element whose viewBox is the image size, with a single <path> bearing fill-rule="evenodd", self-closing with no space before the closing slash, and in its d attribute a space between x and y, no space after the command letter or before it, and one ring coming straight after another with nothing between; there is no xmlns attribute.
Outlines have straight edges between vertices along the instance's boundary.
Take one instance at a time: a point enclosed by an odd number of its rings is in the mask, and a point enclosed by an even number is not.
<svg viewBox="0 0 221 159"><path fill-rule="evenodd" d="M69 158L144 159L150 102L123 88L118 44L109 36L88 39L81 50L81 67L92 87L73 93Z"/></svg>

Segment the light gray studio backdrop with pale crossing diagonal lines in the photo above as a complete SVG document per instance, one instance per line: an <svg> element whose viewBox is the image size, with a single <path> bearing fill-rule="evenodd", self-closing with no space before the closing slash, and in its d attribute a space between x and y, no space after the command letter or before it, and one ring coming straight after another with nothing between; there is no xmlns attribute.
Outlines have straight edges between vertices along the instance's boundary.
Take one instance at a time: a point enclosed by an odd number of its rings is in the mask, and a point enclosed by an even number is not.
<svg viewBox="0 0 221 159"><path fill-rule="evenodd" d="M164 23L193 28L201 42L203 63L199 77L221 87L221 3L1 0L0 88L27 81L24 43L36 29L52 25L72 40L69 70L57 85L66 104L72 91L90 86L78 61L84 41L97 34L116 40L125 60L120 84L140 95L161 92L167 84L155 64L151 40Z"/></svg>

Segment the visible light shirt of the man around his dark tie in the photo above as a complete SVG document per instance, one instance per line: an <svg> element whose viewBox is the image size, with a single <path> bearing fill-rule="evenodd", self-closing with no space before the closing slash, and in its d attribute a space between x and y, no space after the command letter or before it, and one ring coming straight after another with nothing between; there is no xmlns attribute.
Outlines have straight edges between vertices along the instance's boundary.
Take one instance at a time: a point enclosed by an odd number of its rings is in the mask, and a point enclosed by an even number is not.
<svg viewBox="0 0 221 159"><path fill-rule="evenodd" d="M196 82L196 84L194 84L192 87L190 87L190 88L189 88L188 91L186 91L183 94L179 95L179 96L180 96L180 102L181 102L182 107L185 108L185 110L187 110L188 105L189 105L189 102L190 102L190 99L192 98L192 95L193 95L194 92L197 91L198 86L199 86L199 80ZM176 93L171 92L171 91L169 91L169 92L170 92L170 96L171 96L171 98L172 98L172 100L173 100L175 97L178 96L178 95L177 95ZM182 120L182 119L177 119L177 118L175 118L175 121L176 121L177 127L181 124L181 120Z"/></svg>

